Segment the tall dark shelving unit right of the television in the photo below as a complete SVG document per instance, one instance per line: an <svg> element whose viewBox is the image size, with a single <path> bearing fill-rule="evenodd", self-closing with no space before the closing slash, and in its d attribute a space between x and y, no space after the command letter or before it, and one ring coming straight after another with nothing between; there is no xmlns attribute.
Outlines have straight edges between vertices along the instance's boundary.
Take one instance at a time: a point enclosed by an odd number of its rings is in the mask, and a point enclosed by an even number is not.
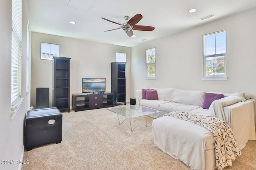
<svg viewBox="0 0 256 170"><path fill-rule="evenodd" d="M111 92L116 106L118 103L126 105L126 62L111 63Z"/></svg>

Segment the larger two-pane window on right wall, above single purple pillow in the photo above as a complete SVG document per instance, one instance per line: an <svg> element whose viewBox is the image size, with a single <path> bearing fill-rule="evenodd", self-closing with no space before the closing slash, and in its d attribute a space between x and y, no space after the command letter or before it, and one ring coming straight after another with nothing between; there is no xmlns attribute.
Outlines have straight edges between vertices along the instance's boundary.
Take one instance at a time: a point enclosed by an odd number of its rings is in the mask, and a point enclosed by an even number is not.
<svg viewBox="0 0 256 170"><path fill-rule="evenodd" d="M226 30L203 35L202 80L227 80Z"/></svg>

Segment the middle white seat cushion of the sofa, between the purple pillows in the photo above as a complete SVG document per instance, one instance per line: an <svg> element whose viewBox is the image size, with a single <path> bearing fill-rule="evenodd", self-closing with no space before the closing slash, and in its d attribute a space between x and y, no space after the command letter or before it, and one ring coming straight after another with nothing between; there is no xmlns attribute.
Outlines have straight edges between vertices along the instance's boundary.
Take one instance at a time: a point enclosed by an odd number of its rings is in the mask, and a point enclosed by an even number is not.
<svg viewBox="0 0 256 170"><path fill-rule="evenodd" d="M159 110L166 111L166 112L190 111L190 110L197 109L200 107L201 106L169 102L169 103L165 103L165 104L160 104Z"/></svg>

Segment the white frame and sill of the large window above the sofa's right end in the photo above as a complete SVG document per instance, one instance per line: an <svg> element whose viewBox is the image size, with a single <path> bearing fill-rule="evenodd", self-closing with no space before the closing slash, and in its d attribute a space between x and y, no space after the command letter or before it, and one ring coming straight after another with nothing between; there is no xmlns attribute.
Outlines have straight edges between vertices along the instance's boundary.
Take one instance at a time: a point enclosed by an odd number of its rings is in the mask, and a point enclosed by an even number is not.
<svg viewBox="0 0 256 170"><path fill-rule="evenodd" d="M226 53L224 53L224 54L218 54L218 55L212 55L212 56L208 56L208 57L213 57L213 56L222 56L222 55L224 55L225 56L225 75L223 75L223 76L220 76L220 75L217 75L217 76L206 76L206 63L205 63L205 56L204 56L204 44L205 44L205 42L204 42L204 37L205 36L207 36L207 35L212 35L212 34L218 34L218 33L221 33L221 32L226 32L226 30L222 30L222 31L217 31L217 32L214 32L214 33L210 33L210 34L206 34L206 35L203 35L202 36L202 39L203 39L203 43L202 43L202 63L203 63L203 68L202 68L202 77L201 77L201 79L202 80L228 80L228 77L226 76L226 54L227 54L227 51L226 51ZM227 41L227 40L226 40ZM227 46L227 45L226 45Z"/></svg>

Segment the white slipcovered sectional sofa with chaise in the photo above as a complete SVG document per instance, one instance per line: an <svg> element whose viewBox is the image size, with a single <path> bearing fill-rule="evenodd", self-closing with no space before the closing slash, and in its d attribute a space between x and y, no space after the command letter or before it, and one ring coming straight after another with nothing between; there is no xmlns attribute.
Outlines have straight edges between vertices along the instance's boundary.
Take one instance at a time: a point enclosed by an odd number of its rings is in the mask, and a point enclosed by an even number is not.
<svg viewBox="0 0 256 170"><path fill-rule="evenodd" d="M142 99L142 90L136 90L136 104L166 112L185 111L222 119L230 125L238 147L256 140L256 100L246 99L242 93L225 93L209 109L203 109L204 91L176 88L151 88L157 91L158 100ZM212 92L213 93L213 92ZM152 133L154 145L173 158L181 160L193 170L214 170L214 137L204 127L170 116L154 119Z"/></svg>

